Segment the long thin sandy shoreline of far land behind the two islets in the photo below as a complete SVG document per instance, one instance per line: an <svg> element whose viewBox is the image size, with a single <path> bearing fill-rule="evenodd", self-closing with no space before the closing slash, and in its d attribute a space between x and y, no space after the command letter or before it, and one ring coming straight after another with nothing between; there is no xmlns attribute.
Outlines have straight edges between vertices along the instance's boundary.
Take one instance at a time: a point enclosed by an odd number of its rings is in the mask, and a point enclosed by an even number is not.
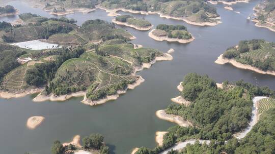
<svg viewBox="0 0 275 154"><path fill-rule="evenodd" d="M106 8L103 8L103 7L99 6L99 5L96 6L96 8L101 9L101 10L105 10L106 12L109 13L108 16L112 16L112 17L120 15L120 14L116 13L117 11L123 11L123 12L137 13L137 14L143 14L143 15L158 14L161 18L183 20L183 21L185 21L188 24L193 24L193 25L197 25L197 26L215 26L217 24L222 23L221 21L217 21L217 22L194 22L194 21L189 21L189 20L187 20L185 18L182 18L182 17L172 17L172 16L169 16L169 15L163 15L163 14L161 14L159 12L152 12L152 11L148 11L148 12L145 12L145 11L133 11L133 10L123 9L123 8L106 9Z"/></svg>

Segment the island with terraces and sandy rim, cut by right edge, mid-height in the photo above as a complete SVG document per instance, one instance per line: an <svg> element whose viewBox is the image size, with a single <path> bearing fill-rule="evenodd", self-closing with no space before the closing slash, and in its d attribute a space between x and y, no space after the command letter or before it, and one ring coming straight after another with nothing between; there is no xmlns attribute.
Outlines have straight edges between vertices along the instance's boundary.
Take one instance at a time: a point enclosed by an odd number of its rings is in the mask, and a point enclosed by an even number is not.
<svg viewBox="0 0 275 154"><path fill-rule="evenodd" d="M215 63L231 63L235 67L275 75L275 44L264 40L240 41L218 57Z"/></svg>

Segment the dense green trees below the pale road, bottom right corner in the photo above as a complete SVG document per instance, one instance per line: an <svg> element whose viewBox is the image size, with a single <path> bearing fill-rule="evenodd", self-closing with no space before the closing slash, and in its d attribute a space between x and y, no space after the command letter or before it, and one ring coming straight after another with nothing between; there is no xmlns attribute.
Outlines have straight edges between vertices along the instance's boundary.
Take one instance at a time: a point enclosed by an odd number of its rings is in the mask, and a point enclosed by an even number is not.
<svg viewBox="0 0 275 154"><path fill-rule="evenodd" d="M209 145L188 144L181 151L170 151L170 154L184 153L274 153L275 152L275 108L264 112L260 121L253 127L251 132L238 141L235 138L227 142L212 141Z"/></svg>

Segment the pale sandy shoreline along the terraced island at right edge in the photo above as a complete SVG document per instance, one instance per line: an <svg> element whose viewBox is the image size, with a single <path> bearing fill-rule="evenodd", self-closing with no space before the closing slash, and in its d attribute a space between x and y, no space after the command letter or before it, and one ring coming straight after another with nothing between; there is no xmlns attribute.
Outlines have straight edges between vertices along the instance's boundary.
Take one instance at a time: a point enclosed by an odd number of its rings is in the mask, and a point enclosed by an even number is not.
<svg viewBox="0 0 275 154"><path fill-rule="evenodd" d="M226 63L230 63L232 64L233 66L235 67L238 67L238 68L241 68L241 69L249 69L249 70L253 70L257 73L261 73L261 74L270 74L270 75L275 75L275 71L270 71L270 70L267 70L267 71L263 71L263 70L260 70L259 68L256 68L256 67L253 67L253 66L250 66L250 65L246 65L246 64L242 64L242 63L239 63L237 62L235 59L227 59L227 58L224 58L223 57L223 54L220 55L217 60L215 61L215 63L217 64L226 64Z"/></svg>

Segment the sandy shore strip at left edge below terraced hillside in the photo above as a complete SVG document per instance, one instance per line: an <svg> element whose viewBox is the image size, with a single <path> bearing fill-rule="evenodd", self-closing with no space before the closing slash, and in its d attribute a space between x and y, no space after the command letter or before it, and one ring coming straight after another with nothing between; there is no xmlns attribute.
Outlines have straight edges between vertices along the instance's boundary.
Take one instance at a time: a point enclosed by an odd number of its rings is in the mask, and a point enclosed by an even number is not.
<svg viewBox="0 0 275 154"><path fill-rule="evenodd" d="M0 92L0 98L19 98L19 97L24 97L26 95L29 94L36 94L36 93L40 93L43 89L42 88L37 88L37 89L31 89L22 93L10 93L10 92L5 92L5 91L1 91Z"/></svg>

